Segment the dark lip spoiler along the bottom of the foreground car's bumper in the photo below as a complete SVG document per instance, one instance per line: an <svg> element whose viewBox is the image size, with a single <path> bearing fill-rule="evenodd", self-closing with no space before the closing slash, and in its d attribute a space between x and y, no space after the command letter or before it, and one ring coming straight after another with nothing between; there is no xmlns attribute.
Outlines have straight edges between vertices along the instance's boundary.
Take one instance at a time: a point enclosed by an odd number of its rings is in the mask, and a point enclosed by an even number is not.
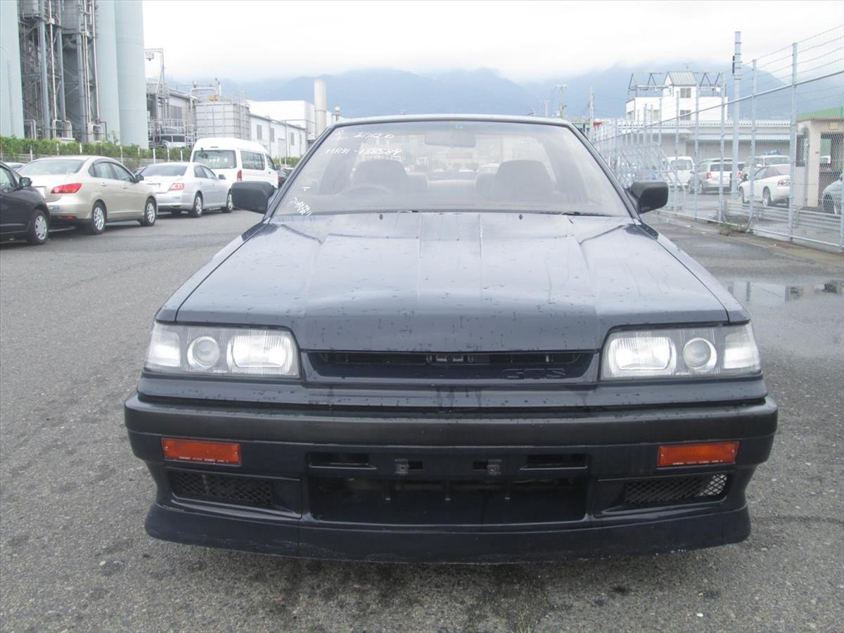
<svg viewBox="0 0 844 633"><path fill-rule="evenodd" d="M747 506L691 517L565 530L455 532L273 525L154 504L145 527L154 538L322 560L523 563L584 556L648 555L738 543L749 536Z"/></svg>

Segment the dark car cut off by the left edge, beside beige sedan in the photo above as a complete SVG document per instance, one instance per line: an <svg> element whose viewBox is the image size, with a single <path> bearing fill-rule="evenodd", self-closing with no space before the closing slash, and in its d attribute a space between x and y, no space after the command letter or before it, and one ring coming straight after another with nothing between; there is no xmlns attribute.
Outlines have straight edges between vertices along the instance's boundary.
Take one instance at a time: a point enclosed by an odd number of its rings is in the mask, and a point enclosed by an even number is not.
<svg viewBox="0 0 844 633"><path fill-rule="evenodd" d="M24 237L35 246L50 235L50 212L32 181L0 163L0 239Z"/></svg>

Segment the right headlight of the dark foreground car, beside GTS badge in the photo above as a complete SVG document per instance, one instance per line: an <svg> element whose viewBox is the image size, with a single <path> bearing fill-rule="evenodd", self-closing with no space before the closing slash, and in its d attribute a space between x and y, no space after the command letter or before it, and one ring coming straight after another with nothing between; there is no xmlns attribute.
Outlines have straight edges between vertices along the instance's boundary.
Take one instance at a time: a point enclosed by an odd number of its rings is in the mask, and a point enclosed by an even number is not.
<svg viewBox="0 0 844 633"><path fill-rule="evenodd" d="M748 323L611 333L603 347L601 378L737 376L759 370Z"/></svg>

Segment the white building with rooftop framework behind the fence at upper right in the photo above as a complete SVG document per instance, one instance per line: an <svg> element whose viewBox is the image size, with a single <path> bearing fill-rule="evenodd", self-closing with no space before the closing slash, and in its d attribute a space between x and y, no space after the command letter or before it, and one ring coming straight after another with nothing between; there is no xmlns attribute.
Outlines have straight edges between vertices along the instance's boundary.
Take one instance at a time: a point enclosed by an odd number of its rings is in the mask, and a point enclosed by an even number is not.
<svg viewBox="0 0 844 633"><path fill-rule="evenodd" d="M722 73L633 73L627 89L625 118L630 122L721 121Z"/></svg>

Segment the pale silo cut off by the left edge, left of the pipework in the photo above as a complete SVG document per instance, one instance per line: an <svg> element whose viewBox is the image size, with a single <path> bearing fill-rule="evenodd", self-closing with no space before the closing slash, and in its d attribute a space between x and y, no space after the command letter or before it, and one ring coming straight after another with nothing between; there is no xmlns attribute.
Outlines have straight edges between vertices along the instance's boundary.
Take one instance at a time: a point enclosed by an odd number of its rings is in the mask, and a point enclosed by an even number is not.
<svg viewBox="0 0 844 633"><path fill-rule="evenodd" d="M0 135L24 136L18 3L0 2Z"/></svg>

